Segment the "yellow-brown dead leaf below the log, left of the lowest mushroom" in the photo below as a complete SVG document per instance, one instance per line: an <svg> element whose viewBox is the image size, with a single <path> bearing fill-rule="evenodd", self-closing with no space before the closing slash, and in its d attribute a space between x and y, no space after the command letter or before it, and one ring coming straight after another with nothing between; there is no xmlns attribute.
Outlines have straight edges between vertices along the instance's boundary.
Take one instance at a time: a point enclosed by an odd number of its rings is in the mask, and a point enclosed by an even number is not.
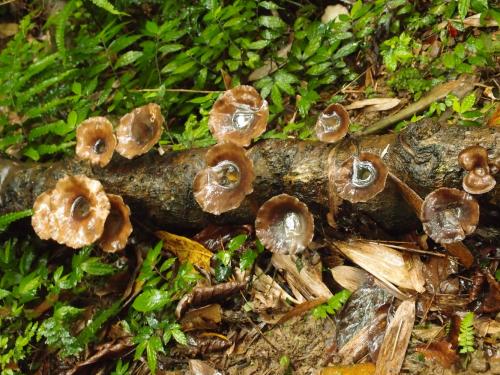
<svg viewBox="0 0 500 375"><path fill-rule="evenodd" d="M202 244L162 230L155 234L163 240L163 248L177 255L181 262L188 261L207 271L210 270L210 258L213 253Z"/></svg>

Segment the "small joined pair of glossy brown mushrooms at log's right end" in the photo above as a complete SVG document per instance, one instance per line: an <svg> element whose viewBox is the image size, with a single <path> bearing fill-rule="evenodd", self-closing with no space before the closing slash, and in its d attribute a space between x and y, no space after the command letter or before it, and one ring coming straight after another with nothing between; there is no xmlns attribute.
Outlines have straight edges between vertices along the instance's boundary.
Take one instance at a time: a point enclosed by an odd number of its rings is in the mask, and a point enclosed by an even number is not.
<svg viewBox="0 0 500 375"><path fill-rule="evenodd" d="M484 194L492 190L496 181L488 166L488 151L481 146L471 146L458 155L458 163L468 173L462 180L463 189L470 194Z"/></svg>

